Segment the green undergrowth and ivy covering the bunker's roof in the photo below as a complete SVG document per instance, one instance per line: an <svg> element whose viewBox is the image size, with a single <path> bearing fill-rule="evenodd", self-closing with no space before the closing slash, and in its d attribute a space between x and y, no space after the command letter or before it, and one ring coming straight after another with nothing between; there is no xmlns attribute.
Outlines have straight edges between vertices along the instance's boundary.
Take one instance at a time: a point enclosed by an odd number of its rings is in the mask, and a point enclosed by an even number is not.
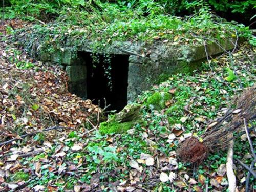
<svg viewBox="0 0 256 192"><path fill-rule="evenodd" d="M35 55L40 50L53 53L66 47L76 51L84 45L97 53L115 41L202 45L205 38L217 39L220 43L236 38L236 32L240 37L251 37L248 28L215 16L202 2L194 5L193 16L183 18L169 15L155 4L146 14L140 9L122 9L108 2L96 1L95 5L96 8L86 4L82 10L64 9L54 22L18 30L17 38L24 39L23 46Z"/></svg>

